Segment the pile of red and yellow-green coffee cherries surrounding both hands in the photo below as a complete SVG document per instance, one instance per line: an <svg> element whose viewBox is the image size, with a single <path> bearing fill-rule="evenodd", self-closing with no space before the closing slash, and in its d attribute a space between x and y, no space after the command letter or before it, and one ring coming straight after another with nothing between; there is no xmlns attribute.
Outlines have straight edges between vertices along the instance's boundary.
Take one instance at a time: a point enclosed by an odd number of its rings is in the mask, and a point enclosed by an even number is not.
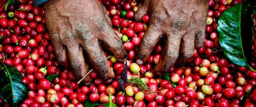
<svg viewBox="0 0 256 107"><path fill-rule="evenodd" d="M146 90L136 84L119 82L123 62L110 56L108 62L115 79L105 83L95 71L89 76L93 82L79 85L72 70L60 65L45 25L44 9L35 7L33 0L19 0L19 5L9 5L0 12L0 61L14 66L28 83L28 95L20 107L83 107L91 103L112 102L119 107L255 107L256 72L231 63L224 57L218 42L217 21L222 12L241 0L209 0L206 39L204 46L194 50L185 66L175 65L168 72L170 80L158 76L154 67L161 59L163 40L155 46L146 63L134 60L141 39L148 28L150 17L134 22L134 13L143 3L136 0L99 0L107 9L112 27L128 52L127 78L139 78ZM250 65L256 69L256 44L252 44ZM105 52L106 57L109 56ZM87 64L88 71L90 70ZM139 72L135 72L139 71ZM60 74L54 81L47 76ZM138 81L138 80L137 80ZM170 81L170 82L169 82ZM250 91L250 95L246 96ZM0 106L9 104L0 98ZM102 107L102 106L98 106Z"/></svg>

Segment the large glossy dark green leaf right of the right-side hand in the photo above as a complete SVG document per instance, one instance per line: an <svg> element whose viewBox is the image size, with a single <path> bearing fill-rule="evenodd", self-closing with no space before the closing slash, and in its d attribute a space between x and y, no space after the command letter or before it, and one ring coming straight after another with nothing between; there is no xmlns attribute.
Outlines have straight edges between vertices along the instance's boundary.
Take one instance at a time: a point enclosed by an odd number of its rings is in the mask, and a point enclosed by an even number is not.
<svg viewBox="0 0 256 107"><path fill-rule="evenodd" d="M224 55L233 63L251 70L248 60L252 51L252 14L255 10L250 4L237 4L224 11L217 24L218 40Z"/></svg>

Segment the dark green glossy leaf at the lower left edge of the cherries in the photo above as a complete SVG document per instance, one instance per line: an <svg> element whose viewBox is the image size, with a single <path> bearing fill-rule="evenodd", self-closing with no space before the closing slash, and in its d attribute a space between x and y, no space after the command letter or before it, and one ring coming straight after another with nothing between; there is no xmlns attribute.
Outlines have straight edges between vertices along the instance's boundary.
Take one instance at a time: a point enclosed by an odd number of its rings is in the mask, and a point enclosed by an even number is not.
<svg viewBox="0 0 256 107"><path fill-rule="evenodd" d="M10 107L17 107L28 94L28 85L21 81L21 73L0 61L0 96Z"/></svg>

